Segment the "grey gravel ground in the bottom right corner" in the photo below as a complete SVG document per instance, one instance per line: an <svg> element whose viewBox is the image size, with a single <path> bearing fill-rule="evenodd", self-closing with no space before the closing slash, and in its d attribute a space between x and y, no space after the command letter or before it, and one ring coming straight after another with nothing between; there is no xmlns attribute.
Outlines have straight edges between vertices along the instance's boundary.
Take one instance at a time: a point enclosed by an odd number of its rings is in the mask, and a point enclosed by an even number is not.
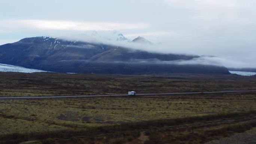
<svg viewBox="0 0 256 144"><path fill-rule="evenodd" d="M256 144L256 128L231 137L210 141L205 144Z"/></svg>

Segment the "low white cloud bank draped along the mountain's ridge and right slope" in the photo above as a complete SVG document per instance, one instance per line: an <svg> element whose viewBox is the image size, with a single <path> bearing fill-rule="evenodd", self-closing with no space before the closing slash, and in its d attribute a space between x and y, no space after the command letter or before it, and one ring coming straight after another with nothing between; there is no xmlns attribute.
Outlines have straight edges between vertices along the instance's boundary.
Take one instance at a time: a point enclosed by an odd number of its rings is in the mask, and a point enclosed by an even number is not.
<svg viewBox="0 0 256 144"><path fill-rule="evenodd" d="M79 35L62 36L61 39L83 41L89 43L99 43L105 45L112 45L116 47L124 47L133 50L143 50L152 53L173 53L173 54L185 54L185 55L212 55L211 53L200 53L198 50L188 49L175 49L168 43L158 43L149 45L147 43L134 43L131 40L117 41L120 38L120 32L118 31L90 31L89 33L83 33ZM121 35L122 36L122 35ZM177 65L215 65L224 66L227 68L255 68L256 64L253 62L242 62L239 60L220 58L217 56L201 56L191 60L177 60L177 61L159 61L158 59L132 59L129 62L139 63L161 63L161 64L177 64Z"/></svg>

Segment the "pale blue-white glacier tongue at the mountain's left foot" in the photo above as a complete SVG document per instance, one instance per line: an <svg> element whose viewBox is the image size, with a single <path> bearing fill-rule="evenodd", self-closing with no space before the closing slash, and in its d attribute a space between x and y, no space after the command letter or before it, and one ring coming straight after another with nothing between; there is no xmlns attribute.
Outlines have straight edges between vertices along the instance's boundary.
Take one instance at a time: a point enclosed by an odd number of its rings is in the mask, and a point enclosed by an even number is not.
<svg viewBox="0 0 256 144"><path fill-rule="evenodd" d="M17 73L47 72L47 71L35 70L35 69L18 67L15 65L7 65L7 64L0 64L0 71L1 72L17 72Z"/></svg>

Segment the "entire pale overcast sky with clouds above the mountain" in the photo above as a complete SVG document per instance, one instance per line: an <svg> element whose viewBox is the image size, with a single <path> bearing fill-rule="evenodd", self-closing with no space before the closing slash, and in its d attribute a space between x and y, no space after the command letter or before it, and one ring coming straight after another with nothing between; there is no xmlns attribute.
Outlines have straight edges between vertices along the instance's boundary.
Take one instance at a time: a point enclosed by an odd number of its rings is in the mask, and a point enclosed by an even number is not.
<svg viewBox="0 0 256 144"><path fill-rule="evenodd" d="M225 59L225 66L256 67L255 5L255 0L0 0L0 45L118 30L129 39L163 43L161 52L214 55Z"/></svg>

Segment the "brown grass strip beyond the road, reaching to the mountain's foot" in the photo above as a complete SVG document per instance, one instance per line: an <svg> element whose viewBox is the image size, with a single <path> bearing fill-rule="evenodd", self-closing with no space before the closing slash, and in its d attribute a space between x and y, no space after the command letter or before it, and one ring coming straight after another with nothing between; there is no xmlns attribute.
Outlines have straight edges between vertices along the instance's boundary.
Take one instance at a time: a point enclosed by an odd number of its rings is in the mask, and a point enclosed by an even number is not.
<svg viewBox="0 0 256 144"><path fill-rule="evenodd" d="M256 77L235 75L94 75L0 73L0 96L140 94L256 89Z"/></svg>

